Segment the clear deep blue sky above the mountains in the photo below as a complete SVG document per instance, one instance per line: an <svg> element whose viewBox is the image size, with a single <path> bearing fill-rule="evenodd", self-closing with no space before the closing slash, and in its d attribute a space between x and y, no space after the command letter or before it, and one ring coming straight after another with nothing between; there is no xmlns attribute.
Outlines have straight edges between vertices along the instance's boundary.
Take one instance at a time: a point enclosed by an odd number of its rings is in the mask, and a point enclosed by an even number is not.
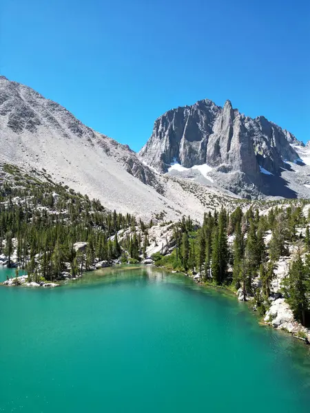
<svg viewBox="0 0 310 413"><path fill-rule="evenodd" d="M0 71L134 150L203 98L306 141L309 27L307 0L1 0Z"/></svg>

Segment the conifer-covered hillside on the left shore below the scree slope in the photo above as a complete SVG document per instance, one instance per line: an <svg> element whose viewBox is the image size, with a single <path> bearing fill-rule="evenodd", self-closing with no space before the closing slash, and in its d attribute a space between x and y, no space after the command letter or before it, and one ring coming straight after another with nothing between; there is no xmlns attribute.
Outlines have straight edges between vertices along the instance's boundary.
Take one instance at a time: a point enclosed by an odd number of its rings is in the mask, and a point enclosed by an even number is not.
<svg viewBox="0 0 310 413"><path fill-rule="evenodd" d="M11 266L16 246L19 266L35 281L59 278L66 263L75 276L87 271L95 260L138 260L148 246L148 226L141 220L139 225L145 232L143 241L136 233L133 215L111 213L99 200L62 185L33 180L25 185L21 180L19 185L5 182L0 188L0 253L8 256ZM121 229L130 231L119 243ZM85 252L75 251L75 242L87 242Z"/></svg>

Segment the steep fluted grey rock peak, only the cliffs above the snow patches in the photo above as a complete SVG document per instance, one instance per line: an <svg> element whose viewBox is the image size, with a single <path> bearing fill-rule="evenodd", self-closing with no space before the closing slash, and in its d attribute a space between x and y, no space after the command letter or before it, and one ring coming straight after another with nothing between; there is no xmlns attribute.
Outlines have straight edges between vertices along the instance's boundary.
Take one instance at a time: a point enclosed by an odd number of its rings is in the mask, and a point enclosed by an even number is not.
<svg viewBox="0 0 310 413"><path fill-rule="evenodd" d="M162 173L174 161L187 168L207 164L215 172L245 173L255 183L260 167L279 173L283 160L296 160L291 144L298 143L264 116L252 119L234 109L230 100L220 107L205 99L158 118L139 156Z"/></svg>

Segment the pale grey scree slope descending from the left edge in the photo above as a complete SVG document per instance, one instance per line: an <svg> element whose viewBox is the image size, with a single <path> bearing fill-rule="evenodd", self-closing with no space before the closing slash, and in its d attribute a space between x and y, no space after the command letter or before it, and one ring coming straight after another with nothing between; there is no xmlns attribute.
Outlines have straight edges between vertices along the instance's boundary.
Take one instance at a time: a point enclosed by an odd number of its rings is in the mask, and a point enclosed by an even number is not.
<svg viewBox="0 0 310 413"><path fill-rule="evenodd" d="M145 166L127 145L90 129L58 103L0 76L0 163L44 169L56 182L143 219L191 215L201 220L216 189L203 198ZM182 182L181 182L182 183ZM211 198L210 198L211 197Z"/></svg>

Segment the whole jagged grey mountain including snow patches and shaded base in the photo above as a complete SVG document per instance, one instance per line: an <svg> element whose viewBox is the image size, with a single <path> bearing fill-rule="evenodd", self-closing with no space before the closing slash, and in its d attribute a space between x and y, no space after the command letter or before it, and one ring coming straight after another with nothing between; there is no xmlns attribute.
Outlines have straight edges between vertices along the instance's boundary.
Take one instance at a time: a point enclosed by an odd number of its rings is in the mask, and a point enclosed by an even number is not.
<svg viewBox="0 0 310 413"><path fill-rule="evenodd" d="M243 196L295 198L307 196L306 187L293 184L290 190L281 174L291 171L288 162L298 162L296 145L302 148L303 143L264 116L249 118L229 100L224 107L200 100L159 117L139 157L161 173L177 170L187 178L188 169L203 166L205 184L213 182ZM294 182L293 176L289 180Z"/></svg>

